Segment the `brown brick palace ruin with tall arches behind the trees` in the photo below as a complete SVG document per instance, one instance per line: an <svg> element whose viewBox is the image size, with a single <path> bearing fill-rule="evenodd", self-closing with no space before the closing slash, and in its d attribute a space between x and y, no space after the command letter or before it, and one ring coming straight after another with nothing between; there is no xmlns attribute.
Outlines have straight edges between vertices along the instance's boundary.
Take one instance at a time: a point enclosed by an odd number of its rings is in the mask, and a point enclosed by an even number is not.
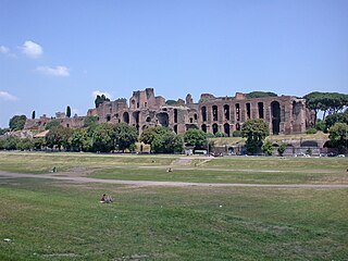
<svg viewBox="0 0 348 261"><path fill-rule="evenodd" d="M206 133L217 132L232 136L240 130L249 119L262 119L270 126L270 134L304 133L311 120L311 112L306 108L303 99L294 96L249 98L237 92L235 97L214 97L202 94L198 103L191 95L186 100L177 100L169 104L161 96L154 96L153 88L137 90L127 103L126 99L104 101L96 109L89 109L87 116L97 116L99 123L125 122L135 126L139 134L145 128L158 125L170 127L177 134L189 128L199 128ZM55 119L41 116L27 120L25 129L44 130L45 125L59 121L64 127L83 127L86 116L66 117L57 113Z"/></svg>

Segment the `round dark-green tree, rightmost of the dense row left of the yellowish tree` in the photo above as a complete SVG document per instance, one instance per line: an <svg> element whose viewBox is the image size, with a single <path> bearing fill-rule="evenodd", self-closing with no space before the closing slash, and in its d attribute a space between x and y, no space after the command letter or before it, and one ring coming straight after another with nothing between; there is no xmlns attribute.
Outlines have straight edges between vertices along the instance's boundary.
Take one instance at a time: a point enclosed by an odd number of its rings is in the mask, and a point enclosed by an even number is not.
<svg viewBox="0 0 348 261"><path fill-rule="evenodd" d="M138 140L138 132L126 123L117 123L114 127L115 145L120 150L129 149Z"/></svg>

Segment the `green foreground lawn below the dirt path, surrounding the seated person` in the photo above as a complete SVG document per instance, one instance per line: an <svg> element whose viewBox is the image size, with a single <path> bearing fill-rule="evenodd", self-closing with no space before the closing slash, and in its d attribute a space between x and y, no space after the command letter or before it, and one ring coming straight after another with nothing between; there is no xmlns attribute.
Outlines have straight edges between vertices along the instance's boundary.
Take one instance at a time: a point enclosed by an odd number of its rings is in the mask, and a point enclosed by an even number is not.
<svg viewBox="0 0 348 261"><path fill-rule="evenodd" d="M347 189L0 184L0 260L348 257Z"/></svg>

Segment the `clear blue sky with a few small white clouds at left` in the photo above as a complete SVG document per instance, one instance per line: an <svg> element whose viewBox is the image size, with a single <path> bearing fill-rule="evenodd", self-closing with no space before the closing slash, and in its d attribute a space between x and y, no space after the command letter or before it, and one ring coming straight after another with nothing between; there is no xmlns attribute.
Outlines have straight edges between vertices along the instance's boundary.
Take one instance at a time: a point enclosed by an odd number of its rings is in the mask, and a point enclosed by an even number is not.
<svg viewBox="0 0 348 261"><path fill-rule="evenodd" d="M0 0L0 127L97 94L348 92L347 0Z"/></svg>

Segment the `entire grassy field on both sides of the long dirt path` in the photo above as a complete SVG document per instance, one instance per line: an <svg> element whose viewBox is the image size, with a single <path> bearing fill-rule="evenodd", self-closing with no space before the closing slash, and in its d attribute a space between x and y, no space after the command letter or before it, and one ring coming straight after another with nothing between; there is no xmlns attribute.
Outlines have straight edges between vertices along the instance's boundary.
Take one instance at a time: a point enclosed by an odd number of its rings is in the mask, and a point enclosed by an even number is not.
<svg viewBox="0 0 348 261"><path fill-rule="evenodd" d="M174 164L174 172L166 173L167 165L176 160L0 153L0 170L45 175L52 164L59 164L62 173L58 175L91 169L90 175L103 178L212 183L258 183L261 172L264 183L277 178L274 183L311 184L320 179L347 184L348 161L338 158L197 158L185 165ZM316 181L308 179L310 175ZM103 192L112 195L115 202L99 203ZM348 257L347 188L137 187L0 178L0 260Z"/></svg>

